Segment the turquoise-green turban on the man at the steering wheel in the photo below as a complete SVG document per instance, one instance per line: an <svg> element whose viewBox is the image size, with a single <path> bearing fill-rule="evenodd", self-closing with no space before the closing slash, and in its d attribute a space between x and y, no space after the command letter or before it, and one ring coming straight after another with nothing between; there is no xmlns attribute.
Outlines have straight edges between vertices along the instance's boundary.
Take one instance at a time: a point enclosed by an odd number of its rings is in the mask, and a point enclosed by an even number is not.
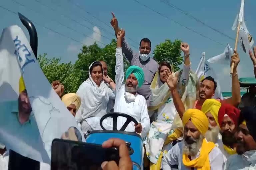
<svg viewBox="0 0 256 170"><path fill-rule="evenodd" d="M134 74L134 76L138 80L139 87L141 87L142 84L143 84L143 81L144 81L144 71L142 70L142 68L140 68L136 65L132 65L132 66L127 68L125 78L127 79L129 77L129 75L132 74L132 73Z"/></svg>

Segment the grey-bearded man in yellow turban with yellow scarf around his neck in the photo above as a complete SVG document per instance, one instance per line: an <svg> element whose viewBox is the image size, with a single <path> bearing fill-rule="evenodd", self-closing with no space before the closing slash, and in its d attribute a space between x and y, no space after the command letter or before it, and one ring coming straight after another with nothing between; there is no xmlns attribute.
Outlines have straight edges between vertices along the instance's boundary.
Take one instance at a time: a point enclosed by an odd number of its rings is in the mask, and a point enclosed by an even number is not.
<svg viewBox="0 0 256 170"><path fill-rule="evenodd" d="M204 135L208 130L208 119L198 109L188 109L183 117L184 141L174 145L162 160L163 170L178 165L179 170L188 169L223 169L223 156L213 142L208 142Z"/></svg>

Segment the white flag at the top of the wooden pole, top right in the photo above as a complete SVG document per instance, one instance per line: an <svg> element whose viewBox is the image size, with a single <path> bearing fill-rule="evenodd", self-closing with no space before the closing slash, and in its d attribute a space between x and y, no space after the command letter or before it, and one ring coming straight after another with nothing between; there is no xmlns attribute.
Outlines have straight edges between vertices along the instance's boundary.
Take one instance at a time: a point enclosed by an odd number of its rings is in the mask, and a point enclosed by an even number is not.
<svg viewBox="0 0 256 170"><path fill-rule="evenodd" d="M235 31L238 28L238 22L241 22L239 28L238 40L240 41L240 48L247 54L249 54L249 49L252 48L254 40L252 35L249 33L245 21L244 21L244 0L241 0L241 7L239 15L236 16L232 30Z"/></svg>

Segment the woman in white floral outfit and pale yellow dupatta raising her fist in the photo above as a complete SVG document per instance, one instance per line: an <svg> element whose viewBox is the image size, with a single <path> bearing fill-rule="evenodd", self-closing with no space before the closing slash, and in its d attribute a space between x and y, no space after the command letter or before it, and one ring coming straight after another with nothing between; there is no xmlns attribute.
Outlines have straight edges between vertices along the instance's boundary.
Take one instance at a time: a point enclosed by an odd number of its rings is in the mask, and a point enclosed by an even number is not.
<svg viewBox="0 0 256 170"><path fill-rule="evenodd" d="M174 134L173 122L179 116L176 115L176 109L172 100L171 91L166 83L170 72L177 77L177 91L182 96L182 101L193 106L196 99L196 80L197 76L190 71L189 45L181 43L181 49L184 52L184 64L182 70L174 73L173 67L166 61L159 64L159 69L154 76L150 90L152 92L149 100L149 111L157 113L156 121L151 123L149 133L144 141L146 154L150 162L157 164L158 158L162 154L162 149L169 134ZM192 95L191 95L192 94ZM189 96L189 97L187 97ZM192 100L191 97L193 98ZM177 117L177 118L176 118ZM174 119L175 118L175 119ZM182 134L182 132L180 132ZM177 134L178 135L178 134Z"/></svg>

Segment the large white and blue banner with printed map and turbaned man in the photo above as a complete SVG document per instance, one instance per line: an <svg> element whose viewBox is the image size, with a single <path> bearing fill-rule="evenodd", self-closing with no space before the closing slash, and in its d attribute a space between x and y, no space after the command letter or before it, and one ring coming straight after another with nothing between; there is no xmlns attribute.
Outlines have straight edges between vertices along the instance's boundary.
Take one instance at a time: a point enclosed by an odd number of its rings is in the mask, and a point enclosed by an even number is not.
<svg viewBox="0 0 256 170"><path fill-rule="evenodd" d="M18 26L0 39L0 96L0 143L7 149L50 163L54 138L85 140Z"/></svg>

